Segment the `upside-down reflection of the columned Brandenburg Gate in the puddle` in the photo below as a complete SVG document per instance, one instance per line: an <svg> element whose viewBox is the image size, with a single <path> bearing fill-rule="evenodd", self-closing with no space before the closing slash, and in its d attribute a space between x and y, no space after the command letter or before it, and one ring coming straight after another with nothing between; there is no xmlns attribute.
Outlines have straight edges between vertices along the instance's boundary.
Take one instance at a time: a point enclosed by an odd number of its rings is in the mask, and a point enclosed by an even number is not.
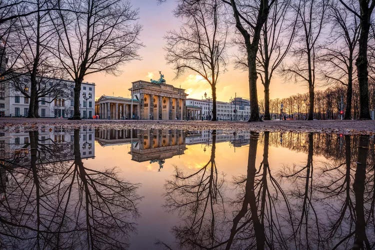
<svg viewBox="0 0 375 250"><path fill-rule="evenodd" d="M141 131L139 143L132 144L131 159L155 161L183 154L186 149L185 132L179 129L150 129Z"/></svg>

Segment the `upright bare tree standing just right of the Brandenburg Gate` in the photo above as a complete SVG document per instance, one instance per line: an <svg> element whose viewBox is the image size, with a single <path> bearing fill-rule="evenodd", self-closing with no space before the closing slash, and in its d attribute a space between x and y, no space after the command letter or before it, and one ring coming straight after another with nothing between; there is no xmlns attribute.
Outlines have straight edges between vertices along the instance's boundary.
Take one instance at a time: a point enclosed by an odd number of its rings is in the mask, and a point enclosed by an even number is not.
<svg viewBox="0 0 375 250"><path fill-rule="evenodd" d="M227 26L220 20L220 0L202 0L191 4L181 0L175 15L186 19L178 31L168 32L167 63L173 64L176 77L185 70L197 73L211 86L212 120L216 120L216 84L225 71ZM211 110L209 110L211 111Z"/></svg>

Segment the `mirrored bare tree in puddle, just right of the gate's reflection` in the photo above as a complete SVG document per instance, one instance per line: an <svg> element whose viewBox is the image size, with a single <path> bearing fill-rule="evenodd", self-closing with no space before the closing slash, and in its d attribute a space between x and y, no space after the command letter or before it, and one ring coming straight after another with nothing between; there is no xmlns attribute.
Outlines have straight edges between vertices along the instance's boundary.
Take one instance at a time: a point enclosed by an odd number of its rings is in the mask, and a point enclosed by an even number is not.
<svg viewBox="0 0 375 250"><path fill-rule="evenodd" d="M184 225L174 227L183 246L210 248L221 241L219 226L225 216L220 189L223 176L218 176L215 163L216 130L212 131L211 155L206 164L185 175L175 168L175 178L165 183L165 206L183 216Z"/></svg>

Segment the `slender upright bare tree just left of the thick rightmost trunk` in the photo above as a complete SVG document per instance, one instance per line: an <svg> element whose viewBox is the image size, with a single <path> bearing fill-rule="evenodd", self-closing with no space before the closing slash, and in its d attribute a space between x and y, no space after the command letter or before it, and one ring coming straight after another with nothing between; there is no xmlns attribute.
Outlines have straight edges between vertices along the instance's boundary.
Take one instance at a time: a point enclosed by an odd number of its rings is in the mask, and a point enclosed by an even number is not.
<svg viewBox="0 0 375 250"><path fill-rule="evenodd" d="M353 1L346 1L352 9L358 7ZM328 45L323 46L319 60L325 80L339 82L347 87L344 119L351 119L352 84L356 78L353 68L359 38L359 18L337 1L328 5L327 17L331 23Z"/></svg>

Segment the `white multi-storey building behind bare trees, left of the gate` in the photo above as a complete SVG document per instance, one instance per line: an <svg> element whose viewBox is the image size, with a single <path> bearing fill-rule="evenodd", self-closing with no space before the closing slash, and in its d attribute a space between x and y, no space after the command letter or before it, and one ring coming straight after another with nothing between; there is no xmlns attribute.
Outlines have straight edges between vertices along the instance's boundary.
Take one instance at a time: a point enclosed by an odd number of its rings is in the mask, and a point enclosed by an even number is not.
<svg viewBox="0 0 375 250"><path fill-rule="evenodd" d="M74 81L43 78L45 84L49 86L58 85L59 93L51 92L45 97L40 97L38 113L40 117L71 117L73 116L74 106ZM24 85L24 91L30 92L30 82L27 76L20 76L16 79L17 86ZM14 81L14 79L13 79ZM4 94L1 93L4 89ZM18 88L19 89L19 88ZM86 97L87 99L85 99ZM1 99L2 98L2 99ZM4 104L2 104L4 103ZM2 116L27 116L29 107L29 98L14 87L13 83L2 82L0 84L0 115ZM82 82L81 94L79 100L81 117L92 117L95 114L95 84Z"/></svg>

